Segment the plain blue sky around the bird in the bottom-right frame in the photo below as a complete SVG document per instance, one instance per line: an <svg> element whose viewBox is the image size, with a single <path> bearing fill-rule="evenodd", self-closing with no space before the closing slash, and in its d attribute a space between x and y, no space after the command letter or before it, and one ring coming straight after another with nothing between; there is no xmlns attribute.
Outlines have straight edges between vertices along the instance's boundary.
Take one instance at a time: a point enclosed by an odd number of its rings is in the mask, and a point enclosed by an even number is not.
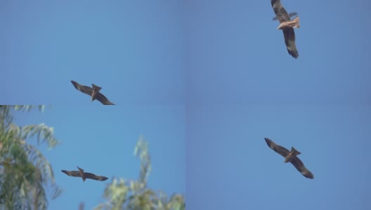
<svg viewBox="0 0 371 210"><path fill-rule="evenodd" d="M190 110L189 209L370 209L369 105L199 105ZM300 151L314 179L283 163L264 137Z"/></svg>

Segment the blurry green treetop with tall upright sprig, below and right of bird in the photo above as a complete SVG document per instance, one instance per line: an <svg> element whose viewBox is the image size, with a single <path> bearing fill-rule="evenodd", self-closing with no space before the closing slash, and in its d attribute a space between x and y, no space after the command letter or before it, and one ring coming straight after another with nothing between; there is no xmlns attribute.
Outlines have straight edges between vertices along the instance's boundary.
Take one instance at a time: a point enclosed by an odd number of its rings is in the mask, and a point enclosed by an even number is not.
<svg viewBox="0 0 371 210"><path fill-rule="evenodd" d="M96 210L185 210L186 201L183 195L174 194L170 198L161 191L155 192L147 188L147 179L151 171L151 159L148 143L139 137L134 155L141 159L141 172L136 181L113 179L105 188L104 197L107 202L99 204Z"/></svg>

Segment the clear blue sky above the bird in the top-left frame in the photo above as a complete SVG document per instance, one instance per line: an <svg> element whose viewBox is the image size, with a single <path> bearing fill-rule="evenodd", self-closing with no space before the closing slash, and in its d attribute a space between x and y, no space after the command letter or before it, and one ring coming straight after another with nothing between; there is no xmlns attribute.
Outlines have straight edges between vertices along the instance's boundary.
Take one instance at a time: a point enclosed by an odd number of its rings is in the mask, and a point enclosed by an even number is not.
<svg viewBox="0 0 371 210"><path fill-rule="evenodd" d="M117 105L184 102L181 3L135 2L1 1L4 102L84 104L70 80Z"/></svg>

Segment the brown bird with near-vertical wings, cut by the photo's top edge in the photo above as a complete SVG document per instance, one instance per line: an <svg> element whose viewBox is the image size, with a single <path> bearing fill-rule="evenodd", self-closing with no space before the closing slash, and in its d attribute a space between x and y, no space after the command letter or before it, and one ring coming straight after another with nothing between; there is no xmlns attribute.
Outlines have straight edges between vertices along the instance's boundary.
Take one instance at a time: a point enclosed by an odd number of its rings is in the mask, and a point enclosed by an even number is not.
<svg viewBox="0 0 371 210"><path fill-rule="evenodd" d="M280 21L280 25L277 29L283 31L287 52L289 52L289 55L297 59L299 57L299 52L297 50L297 45L295 45L294 28L300 27L299 16L294 18L294 20L290 20L289 14L287 14L287 11L283 8L280 0L271 0L271 4L276 18Z"/></svg>

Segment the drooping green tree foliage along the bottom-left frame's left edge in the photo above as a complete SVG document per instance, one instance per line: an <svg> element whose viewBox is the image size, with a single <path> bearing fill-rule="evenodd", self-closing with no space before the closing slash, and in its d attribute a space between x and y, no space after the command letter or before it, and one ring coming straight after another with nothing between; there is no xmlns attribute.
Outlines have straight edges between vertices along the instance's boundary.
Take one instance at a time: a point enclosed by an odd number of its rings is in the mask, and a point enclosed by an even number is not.
<svg viewBox="0 0 371 210"><path fill-rule="evenodd" d="M44 111L44 106L38 106ZM46 209L46 189L52 199L60 195L53 169L29 140L54 148L58 140L53 127L44 124L20 127L13 123L12 111L30 111L34 106L0 106L0 209Z"/></svg>

